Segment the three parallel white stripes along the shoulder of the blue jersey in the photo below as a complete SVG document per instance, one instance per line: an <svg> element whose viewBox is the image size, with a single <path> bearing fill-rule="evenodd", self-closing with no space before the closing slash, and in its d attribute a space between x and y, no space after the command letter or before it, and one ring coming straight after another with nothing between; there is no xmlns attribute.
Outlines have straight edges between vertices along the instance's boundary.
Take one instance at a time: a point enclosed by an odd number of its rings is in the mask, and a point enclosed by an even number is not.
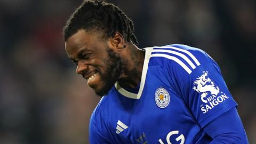
<svg viewBox="0 0 256 144"><path fill-rule="evenodd" d="M192 72L191 68L195 69L196 66L201 65L192 53L190 53L187 50L179 49L177 47L173 47L173 46L154 47L152 52L154 53L151 54L151 57L164 57L164 58L173 60L177 62L183 69L185 69L188 74ZM171 56L169 54L172 54L174 56ZM183 61L185 61L185 63L182 62L182 59Z"/></svg>

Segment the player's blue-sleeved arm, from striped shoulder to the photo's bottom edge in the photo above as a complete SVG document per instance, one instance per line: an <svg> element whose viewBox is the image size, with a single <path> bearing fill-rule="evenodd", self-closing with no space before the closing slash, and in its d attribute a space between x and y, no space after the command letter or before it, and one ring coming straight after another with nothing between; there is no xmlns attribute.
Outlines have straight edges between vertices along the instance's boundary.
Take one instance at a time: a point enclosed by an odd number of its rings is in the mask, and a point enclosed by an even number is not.
<svg viewBox="0 0 256 144"><path fill-rule="evenodd" d="M198 124L213 138L211 143L248 143L237 103L218 64L205 52L188 46L177 52L187 60L174 55L179 61L169 64L171 82Z"/></svg>

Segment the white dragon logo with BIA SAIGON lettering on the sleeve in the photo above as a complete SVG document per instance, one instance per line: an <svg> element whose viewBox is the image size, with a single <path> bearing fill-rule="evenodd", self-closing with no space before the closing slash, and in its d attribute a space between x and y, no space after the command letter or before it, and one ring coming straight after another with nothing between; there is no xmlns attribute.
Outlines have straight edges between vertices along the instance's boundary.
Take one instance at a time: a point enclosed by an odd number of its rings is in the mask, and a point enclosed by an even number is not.
<svg viewBox="0 0 256 144"><path fill-rule="evenodd" d="M220 92L218 86L215 86L214 82L208 77L208 71L203 71L203 75L196 79L193 90L201 94L201 101L204 102L201 105L203 114L229 98L225 93Z"/></svg>

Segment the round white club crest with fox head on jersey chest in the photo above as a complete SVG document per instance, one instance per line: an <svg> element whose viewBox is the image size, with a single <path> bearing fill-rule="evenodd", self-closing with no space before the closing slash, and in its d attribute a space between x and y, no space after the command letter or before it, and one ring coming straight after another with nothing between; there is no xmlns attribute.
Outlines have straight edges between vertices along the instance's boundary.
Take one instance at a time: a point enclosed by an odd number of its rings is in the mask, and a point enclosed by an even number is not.
<svg viewBox="0 0 256 144"><path fill-rule="evenodd" d="M159 108L165 108L169 105L170 95L163 87L159 87L155 93L155 101Z"/></svg>

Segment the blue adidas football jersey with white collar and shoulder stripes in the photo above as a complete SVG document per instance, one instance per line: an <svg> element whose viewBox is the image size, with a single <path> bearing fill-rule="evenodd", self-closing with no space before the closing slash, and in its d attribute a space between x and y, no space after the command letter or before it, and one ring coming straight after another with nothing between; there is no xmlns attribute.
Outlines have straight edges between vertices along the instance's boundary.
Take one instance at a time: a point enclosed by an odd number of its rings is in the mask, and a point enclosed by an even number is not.
<svg viewBox="0 0 256 144"><path fill-rule="evenodd" d="M138 90L118 83L90 121L93 143L207 143L203 127L236 107L217 63L186 45L144 49Z"/></svg>

